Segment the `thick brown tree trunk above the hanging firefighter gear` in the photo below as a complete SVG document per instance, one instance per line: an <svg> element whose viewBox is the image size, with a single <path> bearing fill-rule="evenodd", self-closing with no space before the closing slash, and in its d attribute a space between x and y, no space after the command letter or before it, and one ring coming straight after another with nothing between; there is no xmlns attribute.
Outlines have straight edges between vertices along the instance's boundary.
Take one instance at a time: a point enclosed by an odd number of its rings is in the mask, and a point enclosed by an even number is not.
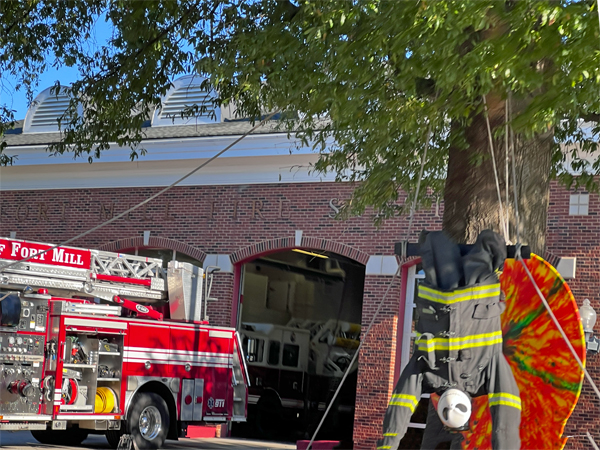
<svg viewBox="0 0 600 450"><path fill-rule="evenodd" d="M504 126L505 101L487 98L492 133ZM454 129L453 131L456 131ZM452 147L444 193L443 227L450 237L461 243L473 243L479 232L492 229L503 235L500 206L485 115L476 115L464 130L467 148ZM517 242L513 189L517 189L519 236L523 244L539 255L544 254L546 219L549 202L552 136L531 140L515 138L517 182L512 181L509 165L509 199L506 199L506 146L504 137L494 139L494 155L502 196L504 217L509 219L508 239ZM509 152L510 156L510 152Z"/></svg>

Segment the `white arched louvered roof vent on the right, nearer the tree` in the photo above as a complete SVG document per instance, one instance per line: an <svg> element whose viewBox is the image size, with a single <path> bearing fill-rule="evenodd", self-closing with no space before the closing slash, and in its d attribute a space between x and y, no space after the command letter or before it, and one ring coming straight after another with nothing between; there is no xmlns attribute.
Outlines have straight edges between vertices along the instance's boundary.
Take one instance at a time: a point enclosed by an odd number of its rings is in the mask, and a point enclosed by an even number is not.
<svg viewBox="0 0 600 450"><path fill-rule="evenodd" d="M175 80L171 89L163 97L161 105L154 110L151 126L221 122L221 110L215 108L212 103L216 93L202 89L200 87L202 81L204 78L198 75L186 75ZM198 112L182 119L181 113L194 105L198 107ZM205 110L201 110L201 107L205 107Z"/></svg>

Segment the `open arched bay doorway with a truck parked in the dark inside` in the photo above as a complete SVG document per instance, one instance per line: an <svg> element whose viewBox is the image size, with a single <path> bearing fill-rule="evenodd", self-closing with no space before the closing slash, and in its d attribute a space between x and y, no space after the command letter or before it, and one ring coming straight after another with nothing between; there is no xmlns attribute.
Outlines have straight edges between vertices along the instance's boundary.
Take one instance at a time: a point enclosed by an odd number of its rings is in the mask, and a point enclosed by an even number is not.
<svg viewBox="0 0 600 450"><path fill-rule="evenodd" d="M240 267L237 327L250 381L248 422L234 435L310 439L359 344L365 265L292 248ZM319 439L352 439L357 364Z"/></svg>

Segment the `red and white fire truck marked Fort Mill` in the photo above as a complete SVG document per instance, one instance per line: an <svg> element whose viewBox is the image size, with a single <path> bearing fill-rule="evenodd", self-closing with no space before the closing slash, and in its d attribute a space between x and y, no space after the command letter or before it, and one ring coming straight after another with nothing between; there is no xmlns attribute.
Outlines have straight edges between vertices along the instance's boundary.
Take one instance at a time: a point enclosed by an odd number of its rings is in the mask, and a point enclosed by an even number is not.
<svg viewBox="0 0 600 450"><path fill-rule="evenodd" d="M147 449L245 421L240 340L208 324L210 284L189 263L0 238L0 430Z"/></svg>

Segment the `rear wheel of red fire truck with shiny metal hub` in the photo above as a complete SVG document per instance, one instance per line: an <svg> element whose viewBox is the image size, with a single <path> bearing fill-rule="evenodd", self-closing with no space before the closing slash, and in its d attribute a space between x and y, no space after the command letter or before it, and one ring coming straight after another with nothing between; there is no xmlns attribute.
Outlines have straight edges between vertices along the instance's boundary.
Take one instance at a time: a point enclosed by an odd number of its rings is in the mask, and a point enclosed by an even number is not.
<svg viewBox="0 0 600 450"><path fill-rule="evenodd" d="M169 409L163 398L141 392L131 402L127 429L138 449L160 448L169 431Z"/></svg>

